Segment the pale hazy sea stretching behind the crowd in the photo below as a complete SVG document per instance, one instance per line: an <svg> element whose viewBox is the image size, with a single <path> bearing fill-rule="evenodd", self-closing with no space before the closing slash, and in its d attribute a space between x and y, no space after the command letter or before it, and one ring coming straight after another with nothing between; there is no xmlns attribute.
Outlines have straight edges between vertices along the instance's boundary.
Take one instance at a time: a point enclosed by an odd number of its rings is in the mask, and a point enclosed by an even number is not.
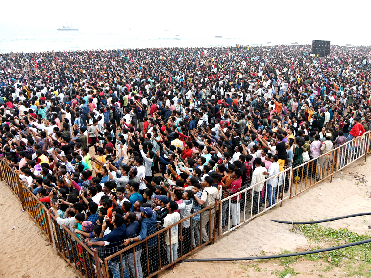
<svg viewBox="0 0 371 278"><path fill-rule="evenodd" d="M59 26L61 28L62 26ZM79 28L76 26L76 28ZM195 33L183 33L177 30L161 30L147 33L127 27L112 32L96 31L95 29L79 29L78 31L58 31L55 26L43 26L40 29L19 26L0 26L0 53L9 52L44 52L44 51L73 51L98 49L135 49L158 47L227 47L236 44L244 46L267 45L298 45L312 44L312 39L269 40L269 36L255 36L253 39L242 36L232 36L209 32L205 36ZM215 37L221 36L221 37ZM331 40L316 37L315 40ZM352 44L350 41L331 41L331 45ZM367 45L366 41L354 42L354 46Z"/></svg>

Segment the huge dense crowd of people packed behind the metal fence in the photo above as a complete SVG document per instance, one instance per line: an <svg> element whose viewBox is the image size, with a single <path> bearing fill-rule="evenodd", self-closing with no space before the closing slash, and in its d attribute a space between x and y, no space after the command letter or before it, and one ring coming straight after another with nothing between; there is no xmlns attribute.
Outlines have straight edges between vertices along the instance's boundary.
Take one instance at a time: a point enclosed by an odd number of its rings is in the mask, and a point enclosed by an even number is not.
<svg viewBox="0 0 371 278"><path fill-rule="evenodd" d="M112 255L250 185L276 202L279 172L322 179L319 155L370 126L370 47L161 48L0 56L4 159L88 246ZM342 150L351 155L349 148ZM265 185L265 179L274 176ZM241 195L223 205L240 222ZM109 260L141 278L213 236L214 207ZM209 223L209 219L211 225ZM182 244L178 244L182 242ZM113 247L112 247L113 246ZM143 254L142 254L143 251ZM142 259L141 259L142 257ZM83 263L83 261L81 261ZM148 274L148 273L147 273Z"/></svg>

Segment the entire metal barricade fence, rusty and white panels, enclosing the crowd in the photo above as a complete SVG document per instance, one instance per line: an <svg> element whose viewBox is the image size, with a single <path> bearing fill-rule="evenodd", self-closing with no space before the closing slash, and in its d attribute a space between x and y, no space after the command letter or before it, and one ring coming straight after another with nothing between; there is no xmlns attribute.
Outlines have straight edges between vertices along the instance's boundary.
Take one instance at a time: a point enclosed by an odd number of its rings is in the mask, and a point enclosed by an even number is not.
<svg viewBox="0 0 371 278"><path fill-rule="evenodd" d="M142 241L134 242L127 247L122 246L122 243L116 244L115 252L109 251L111 247L109 245L89 248L64 225L58 225L55 216L26 185L21 183L4 159L0 159L0 177L20 200L23 209L52 242L55 252L58 252L81 276L110 278L115 277L118 269L120 277L127 278L129 273L135 278L152 277L202 246L214 243L219 236L278 204L282 205L285 199L293 198L329 176L332 178L336 171L362 156L365 156L366 160L367 153L371 153L370 141L371 131L318 158L295 168L285 169L255 185L245 182L245 188L240 192L160 229ZM181 238L179 240L171 236L175 232L175 227ZM224 232L222 227L227 227ZM164 244L166 238L169 244ZM171 242L175 240L177 243Z"/></svg>

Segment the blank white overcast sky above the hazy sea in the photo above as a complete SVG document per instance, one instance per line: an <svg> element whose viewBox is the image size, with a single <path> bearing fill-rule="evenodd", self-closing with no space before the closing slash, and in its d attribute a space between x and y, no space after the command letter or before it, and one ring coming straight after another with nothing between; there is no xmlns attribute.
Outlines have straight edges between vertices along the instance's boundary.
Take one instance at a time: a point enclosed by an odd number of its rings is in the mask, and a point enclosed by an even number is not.
<svg viewBox="0 0 371 278"><path fill-rule="evenodd" d="M344 3L344 4L343 4ZM365 33L365 1L4 1L0 24L59 28L72 20L80 30L122 32L127 28L153 34L169 29L202 37L254 37L285 42L331 40L371 44ZM17 17L17 12L19 17ZM353 14L354 16L349 16ZM358 15L357 15L358 14ZM9 21L11 19L12 21ZM1 26L0 26L1 27ZM1 30L1 29L0 29ZM0 31L1 33L1 31Z"/></svg>

